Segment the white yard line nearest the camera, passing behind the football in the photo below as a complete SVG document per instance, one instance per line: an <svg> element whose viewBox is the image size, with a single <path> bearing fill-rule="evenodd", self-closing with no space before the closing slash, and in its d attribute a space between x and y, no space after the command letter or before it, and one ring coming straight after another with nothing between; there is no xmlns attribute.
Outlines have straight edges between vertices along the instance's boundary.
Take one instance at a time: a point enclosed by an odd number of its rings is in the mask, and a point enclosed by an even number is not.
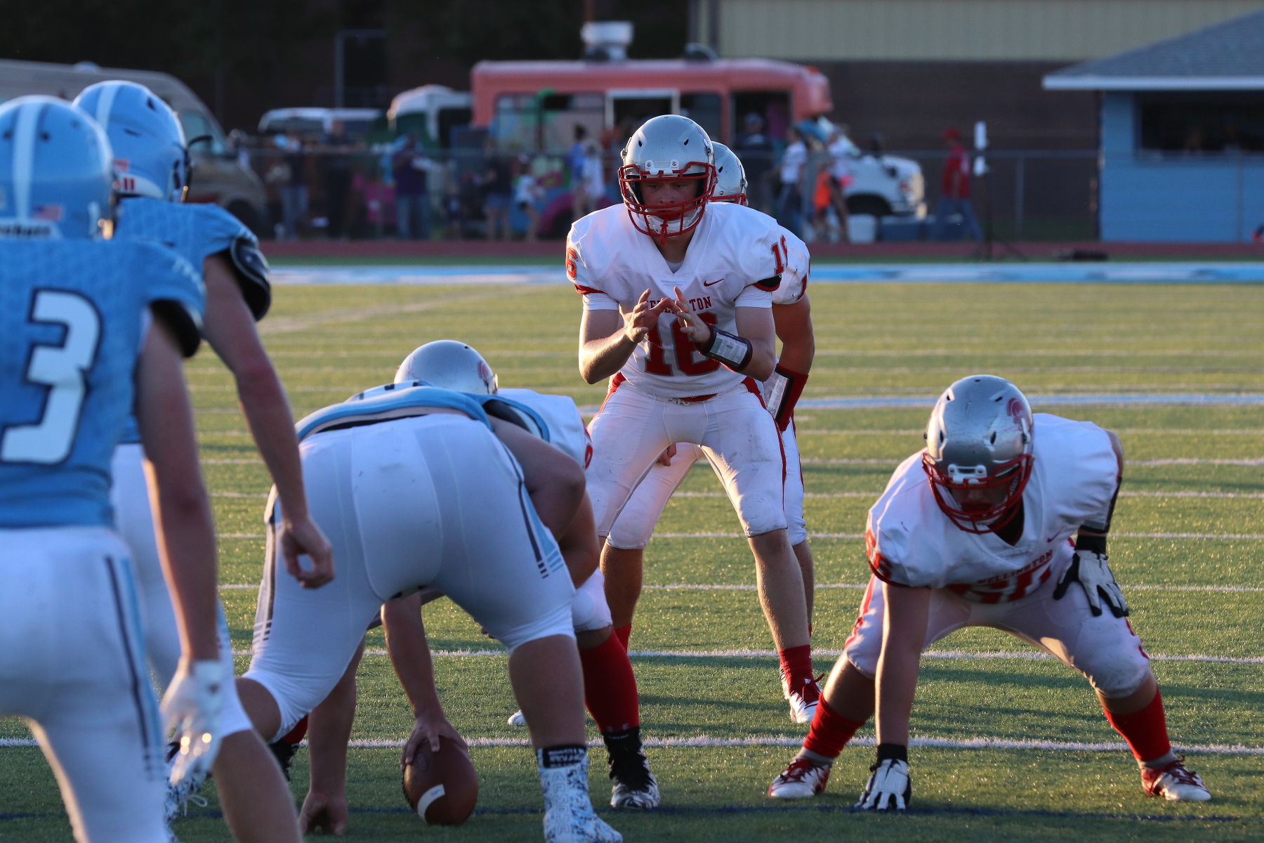
<svg viewBox="0 0 1264 843"><path fill-rule="evenodd" d="M531 742L525 738L466 738L465 743L473 748L492 747L527 747ZM848 741L851 746L872 747L876 739L871 737L857 737ZM353 749L398 749L406 741L349 741L348 747ZM798 747L803 744L803 738L785 734L756 736L750 738L713 738L705 734L688 738L645 738L643 746L670 749L705 749L718 747ZM0 738L0 747L35 747L39 746L34 738ZM303 741L300 746L307 746ZM600 741L589 741L588 746L600 747ZM934 738L918 736L909 739L911 747L935 747L944 749L1063 749L1067 752L1121 752L1127 749L1126 743L1081 743L1077 741L1009 741L1005 738L971 738L968 741L954 741L951 738ZM1248 747L1240 743L1206 743L1206 744L1178 744L1172 748L1178 752L1202 752L1207 755L1264 755L1264 747Z"/></svg>

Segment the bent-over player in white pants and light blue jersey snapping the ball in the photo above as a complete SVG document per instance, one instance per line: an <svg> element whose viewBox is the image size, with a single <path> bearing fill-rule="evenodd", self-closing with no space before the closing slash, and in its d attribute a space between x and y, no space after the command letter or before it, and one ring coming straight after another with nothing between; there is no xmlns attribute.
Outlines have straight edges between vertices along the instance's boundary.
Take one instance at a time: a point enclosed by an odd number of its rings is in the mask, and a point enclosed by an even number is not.
<svg viewBox="0 0 1264 843"><path fill-rule="evenodd" d="M269 741L293 729L345 675L383 604L432 586L509 648L545 795L545 839L621 840L588 798L575 586L552 538L581 509L583 469L470 396L434 387L326 407L298 422L298 439L337 579L312 590L277 576L284 513L273 495L254 657L238 679L255 729ZM426 703L410 701L415 710Z"/></svg>

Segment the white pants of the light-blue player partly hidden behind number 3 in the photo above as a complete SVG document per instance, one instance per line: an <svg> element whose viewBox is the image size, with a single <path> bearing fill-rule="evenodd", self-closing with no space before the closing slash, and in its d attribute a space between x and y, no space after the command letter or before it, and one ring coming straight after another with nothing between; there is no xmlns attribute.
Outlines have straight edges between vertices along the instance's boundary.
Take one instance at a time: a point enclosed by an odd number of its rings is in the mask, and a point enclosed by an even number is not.
<svg viewBox="0 0 1264 843"><path fill-rule="evenodd" d="M118 445L110 469L114 484L110 487L110 503L114 506L114 523L119 535L131 550L131 565L135 570L137 590L140 593L140 622L144 627L145 657L158 680L159 691L171 685L179 665L179 631L176 627L176 609L171 603L167 580L162 575L162 561L158 559L158 540L154 536L154 519L149 509L149 488L145 483L145 452L139 444ZM219 605L220 661L226 675L233 675L233 640L229 637L224 605ZM224 703L220 709L220 734L229 736L250 729L250 718L241 708L236 686L228 682L224 686Z"/></svg>

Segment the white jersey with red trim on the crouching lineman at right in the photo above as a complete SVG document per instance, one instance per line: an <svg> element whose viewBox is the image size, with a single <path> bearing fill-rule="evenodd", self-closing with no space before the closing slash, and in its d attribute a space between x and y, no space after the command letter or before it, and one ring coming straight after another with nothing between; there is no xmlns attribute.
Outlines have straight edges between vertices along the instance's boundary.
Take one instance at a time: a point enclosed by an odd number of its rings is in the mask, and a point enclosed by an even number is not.
<svg viewBox="0 0 1264 843"><path fill-rule="evenodd" d="M897 585L947 588L981 603L1029 594L1073 552L1083 523L1110 521L1119 463L1110 437L1092 422L1036 413L1034 466L1023 492L1023 537L1012 547L995 533L959 530L939 509L918 451L895 470L870 509L870 570Z"/></svg>

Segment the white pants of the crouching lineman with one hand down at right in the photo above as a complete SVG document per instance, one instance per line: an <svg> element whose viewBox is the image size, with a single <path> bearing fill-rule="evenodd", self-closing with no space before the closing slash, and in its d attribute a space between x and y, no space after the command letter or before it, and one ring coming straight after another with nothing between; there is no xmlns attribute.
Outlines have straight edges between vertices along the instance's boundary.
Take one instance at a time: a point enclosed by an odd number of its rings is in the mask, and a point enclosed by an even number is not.
<svg viewBox="0 0 1264 843"><path fill-rule="evenodd" d="M932 589L923 648L962 627L992 627L1076 669L1103 696L1127 696L1150 675L1141 640L1127 618L1116 618L1110 612L1093 617L1078 585L1067 589L1060 600L1053 599L1053 589L1069 565L1069 557L1055 564L1053 575L1038 589L1010 603L976 603L948 589ZM866 676L877 676L885 608L882 583L871 576L861 616L843 646L844 656Z"/></svg>

